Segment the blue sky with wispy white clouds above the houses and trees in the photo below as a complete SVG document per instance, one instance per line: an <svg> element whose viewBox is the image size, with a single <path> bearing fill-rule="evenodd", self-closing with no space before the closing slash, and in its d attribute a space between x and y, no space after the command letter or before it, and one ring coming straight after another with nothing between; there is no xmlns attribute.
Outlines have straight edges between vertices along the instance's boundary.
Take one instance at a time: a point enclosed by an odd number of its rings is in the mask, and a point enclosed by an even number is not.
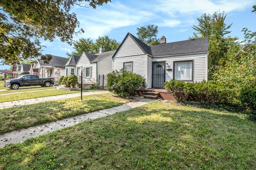
<svg viewBox="0 0 256 170"><path fill-rule="evenodd" d="M81 4L87 6L87 4ZM193 36L193 24L197 25L197 18L203 13L225 11L226 23L233 25L229 36L243 40L244 27L256 30L256 13L252 13L255 0L111 0L93 9L92 7L74 6L72 12L76 13L80 23L79 28L84 33L74 36L79 38L97 39L99 36L109 36L122 42L127 32L136 36L137 28L143 25L158 25L158 37L165 36L167 43L186 40ZM77 28L77 30L79 30ZM66 53L73 52L73 47L61 42L41 40L43 54L52 54L67 57ZM0 70L9 69L8 65L0 65Z"/></svg>

